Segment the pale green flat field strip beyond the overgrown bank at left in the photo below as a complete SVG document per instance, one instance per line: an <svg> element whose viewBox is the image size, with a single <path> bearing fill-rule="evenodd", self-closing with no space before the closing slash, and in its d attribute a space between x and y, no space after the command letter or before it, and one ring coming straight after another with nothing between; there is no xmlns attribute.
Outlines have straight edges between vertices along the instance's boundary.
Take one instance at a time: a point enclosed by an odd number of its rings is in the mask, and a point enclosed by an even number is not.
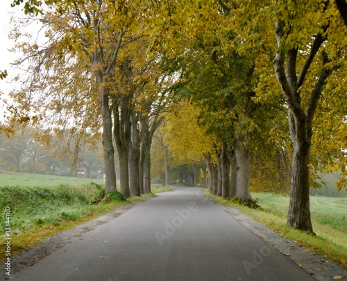
<svg viewBox="0 0 347 281"><path fill-rule="evenodd" d="M24 172L0 171L0 186L58 186L68 184L78 186L95 182L103 185L102 179L85 179L78 177L60 177L54 175L27 174Z"/></svg>

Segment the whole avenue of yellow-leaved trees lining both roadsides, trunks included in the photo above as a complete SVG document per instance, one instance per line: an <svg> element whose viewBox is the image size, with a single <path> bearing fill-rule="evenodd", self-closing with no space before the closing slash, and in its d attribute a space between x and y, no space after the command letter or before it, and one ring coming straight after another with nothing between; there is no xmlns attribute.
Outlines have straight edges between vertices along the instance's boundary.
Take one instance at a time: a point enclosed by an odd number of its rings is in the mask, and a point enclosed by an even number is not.
<svg viewBox="0 0 347 281"><path fill-rule="evenodd" d="M12 98L37 126L102 131L106 191L117 150L121 192L150 192L164 122L165 170L208 166L211 193L246 201L291 177L288 223L313 232L316 172L341 170L346 186L345 4L27 0L46 40L16 47L27 75Z"/></svg>

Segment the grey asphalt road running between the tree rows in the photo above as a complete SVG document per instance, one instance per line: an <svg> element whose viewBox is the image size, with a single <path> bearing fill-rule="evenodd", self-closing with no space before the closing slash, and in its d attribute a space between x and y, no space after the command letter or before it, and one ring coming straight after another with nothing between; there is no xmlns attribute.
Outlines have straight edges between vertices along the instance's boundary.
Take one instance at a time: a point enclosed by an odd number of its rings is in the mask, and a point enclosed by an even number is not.
<svg viewBox="0 0 347 281"><path fill-rule="evenodd" d="M314 280L198 188L137 204L12 280Z"/></svg>

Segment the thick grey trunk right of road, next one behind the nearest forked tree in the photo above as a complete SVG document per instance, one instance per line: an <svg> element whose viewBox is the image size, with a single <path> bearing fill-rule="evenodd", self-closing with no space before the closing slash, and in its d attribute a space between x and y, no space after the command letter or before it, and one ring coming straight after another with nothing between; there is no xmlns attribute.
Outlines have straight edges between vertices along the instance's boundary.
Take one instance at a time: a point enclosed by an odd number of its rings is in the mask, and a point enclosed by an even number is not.
<svg viewBox="0 0 347 281"><path fill-rule="evenodd" d="M244 200L251 200L249 182L251 179L251 152L245 141L237 140L235 145L237 161L236 196Z"/></svg>

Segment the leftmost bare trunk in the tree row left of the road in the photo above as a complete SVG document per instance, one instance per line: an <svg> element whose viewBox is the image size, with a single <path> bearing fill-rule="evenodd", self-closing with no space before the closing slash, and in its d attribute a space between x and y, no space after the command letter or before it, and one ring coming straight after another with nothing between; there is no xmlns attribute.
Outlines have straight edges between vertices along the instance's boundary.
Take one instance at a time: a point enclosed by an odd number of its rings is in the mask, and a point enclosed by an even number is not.
<svg viewBox="0 0 347 281"><path fill-rule="evenodd" d="M103 120L103 159L105 162L105 193L116 191L115 148L112 143L112 115L108 92L101 90L101 116Z"/></svg>

